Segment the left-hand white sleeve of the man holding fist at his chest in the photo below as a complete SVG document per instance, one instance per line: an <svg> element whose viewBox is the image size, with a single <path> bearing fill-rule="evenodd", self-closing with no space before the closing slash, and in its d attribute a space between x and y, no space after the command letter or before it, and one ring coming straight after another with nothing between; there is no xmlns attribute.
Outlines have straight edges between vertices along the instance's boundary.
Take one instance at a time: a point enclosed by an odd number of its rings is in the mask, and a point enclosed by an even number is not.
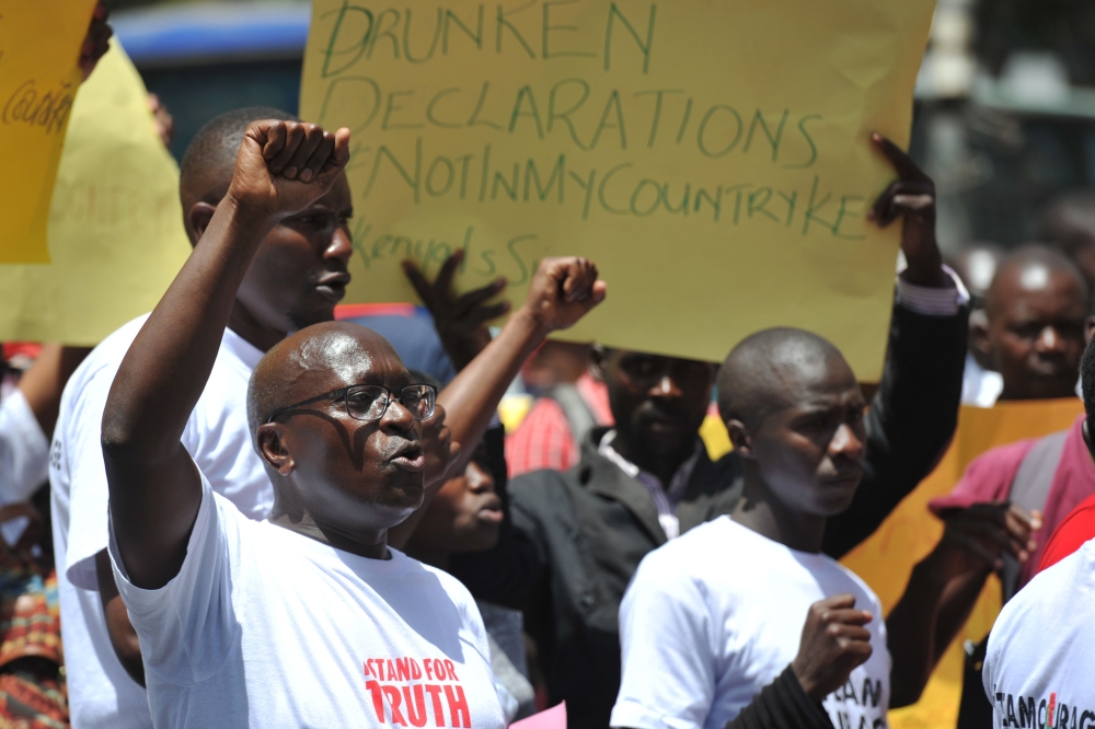
<svg viewBox="0 0 1095 729"><path fill-rule="evenodd" d="M623 680L613 727L703 727L715 698L707 601L679 569L647 557L620 605Z"/></svg>

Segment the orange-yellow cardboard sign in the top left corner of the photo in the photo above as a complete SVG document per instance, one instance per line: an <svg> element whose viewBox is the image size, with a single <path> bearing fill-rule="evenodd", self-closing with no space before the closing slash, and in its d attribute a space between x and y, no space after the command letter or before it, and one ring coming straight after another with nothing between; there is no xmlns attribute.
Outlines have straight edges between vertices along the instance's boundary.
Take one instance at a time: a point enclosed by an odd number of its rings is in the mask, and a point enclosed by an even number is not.
<svg viewBox="0 0 1095 729"><path fill-rule="evenodd" d="M49 263L49 198L94 4L0 0L0 263Z"/></svg>

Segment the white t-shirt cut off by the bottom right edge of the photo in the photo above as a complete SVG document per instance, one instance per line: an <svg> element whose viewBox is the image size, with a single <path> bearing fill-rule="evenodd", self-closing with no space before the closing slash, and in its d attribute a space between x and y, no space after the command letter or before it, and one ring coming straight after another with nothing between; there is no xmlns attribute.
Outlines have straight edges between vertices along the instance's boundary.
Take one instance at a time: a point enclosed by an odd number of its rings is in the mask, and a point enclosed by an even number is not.
<svg viewBox="0 0 1095 729"><path fill-rule="evenodd" d="M1004 605L982 679L994 727L1095 727L1095 540Z"/></svg>

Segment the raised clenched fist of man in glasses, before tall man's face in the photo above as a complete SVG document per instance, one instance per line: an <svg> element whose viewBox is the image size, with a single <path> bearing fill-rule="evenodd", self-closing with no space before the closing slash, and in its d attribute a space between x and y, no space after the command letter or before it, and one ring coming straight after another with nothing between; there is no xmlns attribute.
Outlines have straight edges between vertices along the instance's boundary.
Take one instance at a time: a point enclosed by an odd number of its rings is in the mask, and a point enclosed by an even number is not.
<svg viewBox="0 0 1095 729"><path fill-rule="evenodd" d="M331 189L349 162L349 129L265 119L243 135L228 190L241 210L268 220L300 212Z"/></svg>

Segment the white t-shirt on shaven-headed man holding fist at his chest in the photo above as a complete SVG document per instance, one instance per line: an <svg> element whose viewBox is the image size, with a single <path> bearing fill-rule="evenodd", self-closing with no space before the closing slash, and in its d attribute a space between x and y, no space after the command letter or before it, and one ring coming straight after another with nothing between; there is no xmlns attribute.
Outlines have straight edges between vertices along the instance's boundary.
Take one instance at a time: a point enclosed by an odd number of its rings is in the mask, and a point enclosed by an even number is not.
<svg viewBox="0 0 1095 729"><path fill-rule="evenodd" d="M798 655L809 606L843 592L875 616L874 652L825 707L834 727L885 727L890 657L874 592L830 557L729 517L658 547L635 572L620 605L623 681L612 726L723 729Z"/></svg>

